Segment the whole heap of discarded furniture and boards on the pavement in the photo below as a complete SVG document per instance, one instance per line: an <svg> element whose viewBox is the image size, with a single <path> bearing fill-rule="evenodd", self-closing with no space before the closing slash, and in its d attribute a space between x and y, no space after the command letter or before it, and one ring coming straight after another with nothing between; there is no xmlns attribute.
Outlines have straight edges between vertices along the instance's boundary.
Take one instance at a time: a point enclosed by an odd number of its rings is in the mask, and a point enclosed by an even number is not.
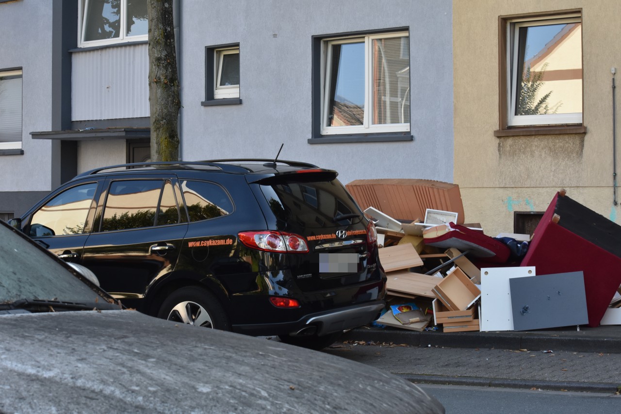
<svg viewBox="0 0 621 414"><path fill-rule="evenodd" d="M375 326L525 331L621 324L621 226L560 190L530 234L464 223L459 186L432 180L346 185L378 230L388 276Z"/></svg>

